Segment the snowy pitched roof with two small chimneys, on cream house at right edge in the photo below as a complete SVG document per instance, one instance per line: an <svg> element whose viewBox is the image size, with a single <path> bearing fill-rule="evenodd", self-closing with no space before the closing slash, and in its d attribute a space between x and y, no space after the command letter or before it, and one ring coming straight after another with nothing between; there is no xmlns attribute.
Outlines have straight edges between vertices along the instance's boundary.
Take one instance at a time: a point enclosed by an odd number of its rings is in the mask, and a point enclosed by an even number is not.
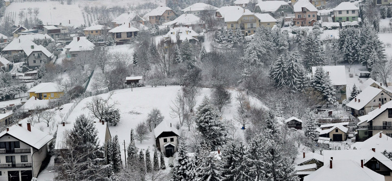
<svg viewBox="0 0 392 181"><path fill-rule="evenodd" d="M377 96L380 92L384 92L385 94L387 94L387 92L385 92L381 89L377 89L377 88L373 88L373 87L369 86L364 91L359 93L349 103L347 103L346 106L353 108L355 110L361 110L370 101L372 101L374 99L374 97Z"/></svg>

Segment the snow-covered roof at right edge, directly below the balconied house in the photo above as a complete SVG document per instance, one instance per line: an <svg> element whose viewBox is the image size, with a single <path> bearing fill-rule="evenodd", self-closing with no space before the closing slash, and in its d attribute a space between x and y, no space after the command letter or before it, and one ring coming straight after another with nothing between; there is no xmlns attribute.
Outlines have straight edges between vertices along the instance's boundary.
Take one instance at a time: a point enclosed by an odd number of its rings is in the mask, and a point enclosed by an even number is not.
<svg viewBox="0 0 392 181"><path fill-rule="evenodd" d="M381 133L381 137L380 137ZM358 150L371 150L372 148L376 149L376 152L383 152L387 150L387 152L392 151L392 137L386 136L382 132L375 134L374 136L369 137L367 140L363 142L355 142L351 145L351 149Z"/></svg>

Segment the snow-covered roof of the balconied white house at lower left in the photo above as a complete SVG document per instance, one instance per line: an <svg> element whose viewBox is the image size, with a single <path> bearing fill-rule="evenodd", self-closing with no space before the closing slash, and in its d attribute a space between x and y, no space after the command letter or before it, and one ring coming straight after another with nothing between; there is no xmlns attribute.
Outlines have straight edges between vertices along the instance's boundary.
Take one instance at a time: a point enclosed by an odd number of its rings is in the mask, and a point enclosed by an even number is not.
<svg viewBox="0 0 392 181"><path fill-rule="evenodd" d="M31 132L27 130L27 123L23 123L22 126L13 125L9 128L8 132L6 130L1 132L0 137L5 135L13 136L35 149L41 149L44 145L48 144L48 142L53 139L53 136L36 129L33 126L30 127L30 130Z"/></svg>

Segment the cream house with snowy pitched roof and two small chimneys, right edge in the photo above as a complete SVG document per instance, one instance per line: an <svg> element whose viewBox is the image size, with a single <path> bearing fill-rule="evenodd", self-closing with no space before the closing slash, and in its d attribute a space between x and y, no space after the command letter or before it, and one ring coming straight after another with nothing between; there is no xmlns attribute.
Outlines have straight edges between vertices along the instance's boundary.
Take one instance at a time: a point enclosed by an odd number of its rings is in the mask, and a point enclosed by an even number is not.
<svg viewBox="0 0 392 181"><path fill-rule="evenodd" d="M369 86L346 104L355 115L365 115L379 105L384 105L392 100L392 96L382 89Z"/></svg>

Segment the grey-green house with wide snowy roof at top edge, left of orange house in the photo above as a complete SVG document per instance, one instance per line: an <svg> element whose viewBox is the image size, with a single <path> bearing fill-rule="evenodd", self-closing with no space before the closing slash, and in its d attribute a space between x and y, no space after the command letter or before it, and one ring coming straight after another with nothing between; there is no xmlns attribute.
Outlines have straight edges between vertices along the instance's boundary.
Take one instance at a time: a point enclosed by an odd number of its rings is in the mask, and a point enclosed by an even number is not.
<svg viewBox="0 0 392 181"><path fill-rule="evenodd" d="M256 4L254 12L271 13L278 16L289 16L294 13L293 7L284 0L260 0Z"/></svg>

